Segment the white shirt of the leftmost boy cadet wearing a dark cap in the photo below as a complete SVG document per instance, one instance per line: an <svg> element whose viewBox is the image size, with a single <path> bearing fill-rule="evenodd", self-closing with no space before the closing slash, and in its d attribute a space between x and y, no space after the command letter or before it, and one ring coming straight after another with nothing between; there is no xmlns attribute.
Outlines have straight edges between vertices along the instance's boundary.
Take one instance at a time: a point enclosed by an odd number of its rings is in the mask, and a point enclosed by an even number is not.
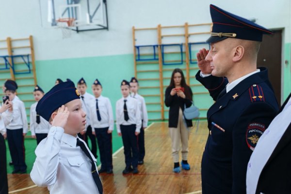
<svg viewBox="0 0 291 194"><path fill-rule="evenodd" d="M27 133L28 131L28 124L27 124L27 117L26 117L26 110L24 103L18 98L14 97L12 100L13 104L13 118L9 125L6 126L7 129L23 129L23 133ZM9 110L6 110L8 113Z"/></svg>

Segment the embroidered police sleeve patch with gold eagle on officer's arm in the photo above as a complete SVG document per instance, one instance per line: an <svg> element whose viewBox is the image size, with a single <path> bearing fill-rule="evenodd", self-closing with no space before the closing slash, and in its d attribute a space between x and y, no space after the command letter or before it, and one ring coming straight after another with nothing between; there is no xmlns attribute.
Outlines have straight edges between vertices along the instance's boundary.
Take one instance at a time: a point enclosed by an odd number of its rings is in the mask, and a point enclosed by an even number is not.
<svg viewBox="0 0 291 194"><path fill-rule="evenodd" d="M260 136L266 130L265 125L262 123L249 123L246 129L246 144L254 151Z"/></svg>

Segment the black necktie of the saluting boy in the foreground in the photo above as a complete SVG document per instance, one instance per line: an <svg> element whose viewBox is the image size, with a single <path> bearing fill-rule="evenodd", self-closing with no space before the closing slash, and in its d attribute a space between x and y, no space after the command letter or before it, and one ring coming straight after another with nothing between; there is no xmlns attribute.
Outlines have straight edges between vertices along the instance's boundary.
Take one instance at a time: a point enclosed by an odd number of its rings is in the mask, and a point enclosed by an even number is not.
<svg viewBox="0 0 291 194"><path fill-rule="evenodd" d="M91 157L88 149L86 148L85 144L80 141L78 138L77 138L77 146L80 146L82 151L86 154L86 156L90 159L91 161L91 172L92 172L92 176L93 176L93 179L95 181L95 184L97 185L97 188L98 188L98 191L99 191L99 194L103 194L103 187L102 187L102 183L101 183L101 180L99 178L99 175L97 173L97 170L96 170L96 166L95 166L95 163L94 163L94 160L93 158Z"/></svg>

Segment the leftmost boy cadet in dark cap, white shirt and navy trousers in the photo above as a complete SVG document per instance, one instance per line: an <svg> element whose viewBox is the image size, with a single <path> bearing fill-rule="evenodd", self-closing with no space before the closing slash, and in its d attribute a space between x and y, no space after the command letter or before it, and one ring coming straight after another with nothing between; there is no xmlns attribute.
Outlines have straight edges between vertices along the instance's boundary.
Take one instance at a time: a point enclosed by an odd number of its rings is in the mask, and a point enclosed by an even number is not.
<svg viewBox="0 0 291 194"><path fill-rule="evenodd" d="M17 84L15 81L5 82L5 93L13 104L13 118L6 126L7 140L15 173L26 173L24 136L28 131L27 117L24 103L16 97ZM7 111L6 111L7 112Z"/></svg>

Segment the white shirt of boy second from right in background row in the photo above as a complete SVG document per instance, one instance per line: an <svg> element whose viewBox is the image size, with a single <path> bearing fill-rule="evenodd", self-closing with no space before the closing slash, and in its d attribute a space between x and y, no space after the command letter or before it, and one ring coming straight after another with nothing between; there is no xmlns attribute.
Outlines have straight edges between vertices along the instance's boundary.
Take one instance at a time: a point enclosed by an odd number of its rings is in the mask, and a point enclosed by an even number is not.
<svg viewBox="0 0 291 194"><path fill-rule="evenodd" d="M124 119L124 100L127 100L126 106L128 110L129 120L125 121ZM136 125L136 132L140 132L140 129L142 127L142 119L141 119L141 111L139 109L138 100L133 97L122 97L121 99L117 100L116 102L116 129L117 132L120 133L120 125Z"/></svg>

